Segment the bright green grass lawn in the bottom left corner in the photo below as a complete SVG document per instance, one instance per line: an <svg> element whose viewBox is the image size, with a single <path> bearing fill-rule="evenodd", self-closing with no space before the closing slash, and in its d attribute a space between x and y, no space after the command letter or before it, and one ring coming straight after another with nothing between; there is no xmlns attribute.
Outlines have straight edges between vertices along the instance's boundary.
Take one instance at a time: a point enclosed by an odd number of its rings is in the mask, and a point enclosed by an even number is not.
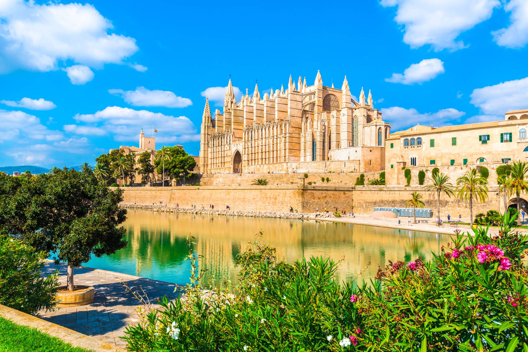
<svg viewBox="0 0 528 352"><path fill-rule="evenodd" d="M37 329L17 325L0 317L0 352L88 352L72 347Z"/></svg>

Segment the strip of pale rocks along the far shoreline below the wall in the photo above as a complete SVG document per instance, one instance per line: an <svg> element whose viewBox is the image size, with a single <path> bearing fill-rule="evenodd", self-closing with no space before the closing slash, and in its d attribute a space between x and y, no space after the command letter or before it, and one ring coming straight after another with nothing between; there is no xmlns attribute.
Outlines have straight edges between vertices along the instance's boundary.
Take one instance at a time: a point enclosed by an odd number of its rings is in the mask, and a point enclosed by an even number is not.
<svg viewBox="0 0 528 352"><path fill-rule="evenodd" d="M130 209L151 210L154 212L167 213L188 213L188 214L212 214L212 215L234 215L234 216L252 216L252 217L274 217L288 219L319 219L319 218L336 218L334 213L278 213L278 212L253 212L243 210L213 210L213 209L194 209L194 208L176 208L173 206L152 205L152 204L127 204L121 203L122 207Z"/></svg>

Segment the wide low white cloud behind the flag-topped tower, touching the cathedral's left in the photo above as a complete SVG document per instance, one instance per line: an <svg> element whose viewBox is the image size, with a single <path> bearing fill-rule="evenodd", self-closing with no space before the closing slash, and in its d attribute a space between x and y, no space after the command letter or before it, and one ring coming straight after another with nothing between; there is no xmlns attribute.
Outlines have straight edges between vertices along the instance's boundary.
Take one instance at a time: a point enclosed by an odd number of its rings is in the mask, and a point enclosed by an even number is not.
<svg viewBox="0 0 528 352"><path fill-rule="evenodd" d="M100 129L114 134L114 139L118 141L135 142L142 128L147 131L153 125L159 131L157 139L162 142L164 138L172 138L174 141L200 139L200 135L196 134L196 127L185 116L174 117L159 112L114 106L92 114L78 114L73 118L77 121L98 123Z"/></svg>

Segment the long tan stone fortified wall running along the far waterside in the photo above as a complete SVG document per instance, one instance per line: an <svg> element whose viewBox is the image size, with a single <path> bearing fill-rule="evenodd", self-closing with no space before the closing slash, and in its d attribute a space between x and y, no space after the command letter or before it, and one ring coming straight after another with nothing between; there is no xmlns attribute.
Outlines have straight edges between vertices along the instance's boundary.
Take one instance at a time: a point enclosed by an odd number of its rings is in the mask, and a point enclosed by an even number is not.
<svg viewBox="0 0 528 352"><path fill-rule="evenodd" d="M486 213L488 210L504 211L502 198L497 195L497 187L488 187L488 200L484 204L474 203L473 215ZM436 213L437 199L422 186L308 186L268 185L268 186L185 186L185 187L138 187L125 188L126 204L163 204L180 207L191 207L194 204L199 209L214 205L215 210L225 209L227 205L233 211L289 212L289 207L297 207L299 213L331 211L337 207L339 211L353 210L357 214L371 214L374 207L404 207L404 201L411 198L412 192L423 196L426 208ZM441 197L441 212L451 216L462 214L469 216L467 202L455 197Z"/></svg>

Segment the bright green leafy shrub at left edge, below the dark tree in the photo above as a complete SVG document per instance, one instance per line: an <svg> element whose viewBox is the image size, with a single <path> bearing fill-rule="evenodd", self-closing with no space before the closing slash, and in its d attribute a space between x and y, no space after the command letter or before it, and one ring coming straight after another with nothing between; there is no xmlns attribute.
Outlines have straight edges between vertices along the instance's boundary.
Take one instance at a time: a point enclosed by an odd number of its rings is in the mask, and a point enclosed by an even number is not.
<svg viewBox="0 0 528 352"><path fill-rule="evenodd" d="M47 254L0 234L0 305L28 314L54 309L59 278L42 275Z"/></svg>

